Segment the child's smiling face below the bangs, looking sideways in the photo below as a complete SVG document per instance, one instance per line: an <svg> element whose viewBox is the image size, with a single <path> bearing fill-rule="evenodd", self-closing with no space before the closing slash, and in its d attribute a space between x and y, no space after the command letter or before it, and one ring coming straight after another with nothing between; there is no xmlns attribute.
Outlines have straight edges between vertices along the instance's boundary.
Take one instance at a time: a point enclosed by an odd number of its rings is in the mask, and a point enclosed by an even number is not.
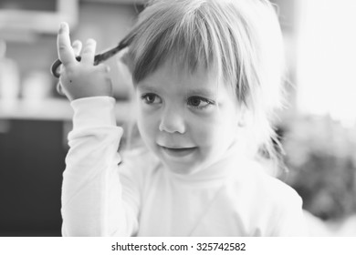
<svg viewBox="0 0 356 255"><path fill-rule="evenodd" d="M236 139L237 99L215 72L192 75L166 63L137 84L136 95L141 137L173 172L211 166Z"/></svg>

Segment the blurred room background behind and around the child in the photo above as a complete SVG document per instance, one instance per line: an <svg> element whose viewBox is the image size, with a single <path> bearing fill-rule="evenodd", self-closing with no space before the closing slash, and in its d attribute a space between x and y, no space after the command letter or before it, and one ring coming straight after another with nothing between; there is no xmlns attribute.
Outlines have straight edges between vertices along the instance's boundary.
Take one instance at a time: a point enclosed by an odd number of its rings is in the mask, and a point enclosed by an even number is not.
<svg viewBox="0 0 356 255"><path fill-rule="evenodd" d="M356 236L356 3L273 0L288 64L276 121L288 173L317 236ZM49 67L56 33L116 46L144 0L0 0L0 236L60 236L60 192L72 111ZM131 87L111 58L118 124Z"/></svg>

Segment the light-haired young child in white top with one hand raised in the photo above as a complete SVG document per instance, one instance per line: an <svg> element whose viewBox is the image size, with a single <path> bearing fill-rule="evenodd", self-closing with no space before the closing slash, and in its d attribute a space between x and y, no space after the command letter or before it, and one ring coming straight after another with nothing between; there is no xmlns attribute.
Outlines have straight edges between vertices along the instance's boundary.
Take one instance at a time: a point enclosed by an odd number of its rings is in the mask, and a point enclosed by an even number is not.
<svg viewBox="0 0 356 255"><path fill-rule="evenodd" d="M273 6L152 1L126 39L144 146L119 155L110 70L93 65L94 40L81 50L67 24L59 29L61 89L74 109L63 235L304 235L298 194L257 157L263 148L277 162L270 118L283 47Z"/></svg>

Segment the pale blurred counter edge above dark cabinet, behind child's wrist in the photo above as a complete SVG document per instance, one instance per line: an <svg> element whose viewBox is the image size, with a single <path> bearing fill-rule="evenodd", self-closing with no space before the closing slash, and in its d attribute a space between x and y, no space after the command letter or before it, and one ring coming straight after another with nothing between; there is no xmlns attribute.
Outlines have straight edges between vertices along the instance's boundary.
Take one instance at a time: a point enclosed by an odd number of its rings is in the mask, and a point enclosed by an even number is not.
<svg viewBox="0 0 356 255"><path fill-rule="evenodd" d="M115 105L116 119L125 122L130 109L129 101L117 101ZM47 98L42 100L11 100L0 99L0 119L34 119L70 121L73 110L68 100Z"/></svg>

